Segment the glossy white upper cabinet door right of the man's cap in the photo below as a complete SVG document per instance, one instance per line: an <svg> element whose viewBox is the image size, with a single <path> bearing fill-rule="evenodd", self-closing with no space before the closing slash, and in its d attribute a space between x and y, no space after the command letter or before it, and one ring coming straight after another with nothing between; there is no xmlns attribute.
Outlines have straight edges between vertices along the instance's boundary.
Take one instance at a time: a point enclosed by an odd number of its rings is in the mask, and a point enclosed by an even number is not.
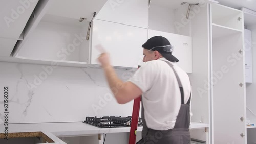
<svg viewBox="0 0 256 144"><path fill-rule="evenodd" d="M192 38L173 33L166 33L155 30L148 30L148 38L163 36L174 46L172 54L179 59L177 63L187 73L192 73Z"/></svg>

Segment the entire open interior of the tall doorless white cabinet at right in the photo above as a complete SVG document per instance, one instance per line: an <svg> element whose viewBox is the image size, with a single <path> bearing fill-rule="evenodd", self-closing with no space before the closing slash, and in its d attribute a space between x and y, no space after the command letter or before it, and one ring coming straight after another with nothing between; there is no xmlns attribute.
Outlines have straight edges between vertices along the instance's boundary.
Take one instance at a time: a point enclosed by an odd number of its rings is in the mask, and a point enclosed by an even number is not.
<svg viewBox="0 0 256 144"><path fill-rule="evenodd" d="M244 144L246 99L242 11L212 4L211 15L213 141ZM238 20L238 17L242 19Z"/></svg>

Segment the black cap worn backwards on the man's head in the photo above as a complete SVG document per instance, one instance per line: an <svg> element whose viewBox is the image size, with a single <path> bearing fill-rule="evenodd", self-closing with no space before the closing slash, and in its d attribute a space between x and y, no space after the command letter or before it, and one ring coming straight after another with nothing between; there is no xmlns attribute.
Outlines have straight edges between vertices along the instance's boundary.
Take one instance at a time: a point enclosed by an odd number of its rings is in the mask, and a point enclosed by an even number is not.
<svg viewBox="0 0 256 144"><path fill-rule="evenodd" d="M164 58L171 62L178 62L179 60L172 55L173 46L170 45L168 39L162 36L154 36L142 45L144 49L158 51Z"/></svg>

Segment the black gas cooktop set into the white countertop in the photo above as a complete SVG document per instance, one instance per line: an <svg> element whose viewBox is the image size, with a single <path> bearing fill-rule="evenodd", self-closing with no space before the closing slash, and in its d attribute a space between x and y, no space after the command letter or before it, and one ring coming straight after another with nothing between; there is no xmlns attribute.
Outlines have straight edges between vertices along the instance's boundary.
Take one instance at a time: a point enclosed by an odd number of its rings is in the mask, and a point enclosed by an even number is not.
<svg viewBox="0 0 256 144"><path fill-rule="evenodd" d="M117 116L103 116L103 117L86 117L83 123L87 123L99 128L116 128L116 127L130 127L132 116L117 117ZM142 120L139 117L138 126L142 126Z"/></svg>

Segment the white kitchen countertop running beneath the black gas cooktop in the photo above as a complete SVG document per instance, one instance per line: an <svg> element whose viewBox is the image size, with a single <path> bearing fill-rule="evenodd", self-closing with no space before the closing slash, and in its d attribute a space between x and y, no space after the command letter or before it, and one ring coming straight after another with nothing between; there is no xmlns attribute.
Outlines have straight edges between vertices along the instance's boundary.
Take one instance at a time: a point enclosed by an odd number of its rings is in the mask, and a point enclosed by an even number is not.
<svg viewBox="0 0 256 144"><path fill-rule="evenodd" d="M208 124L191 122L191 129L204 129L208 127ZM0 133L3 133L2 130L4 130L4 128L4 124L0 124ZM98 128L83 122L8 124L8 133L39 131L45 133L56 143L65 143L58 137L130 132L130 127ZM138 127L137 131L142 131L142 127Z"/></svg>

